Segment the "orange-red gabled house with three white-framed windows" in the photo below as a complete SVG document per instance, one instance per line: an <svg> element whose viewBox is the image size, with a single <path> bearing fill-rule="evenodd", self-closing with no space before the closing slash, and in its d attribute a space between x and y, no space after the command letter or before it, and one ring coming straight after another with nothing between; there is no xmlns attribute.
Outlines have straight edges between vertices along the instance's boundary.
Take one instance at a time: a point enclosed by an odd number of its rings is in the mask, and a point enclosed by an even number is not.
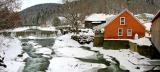
<svg viewBox="0 0 160 72"><path fill-rule="evenodd" d="M134 39L135 34L144 37L145 27L128 10L122 11L104 28L104 39Z"/></svg>

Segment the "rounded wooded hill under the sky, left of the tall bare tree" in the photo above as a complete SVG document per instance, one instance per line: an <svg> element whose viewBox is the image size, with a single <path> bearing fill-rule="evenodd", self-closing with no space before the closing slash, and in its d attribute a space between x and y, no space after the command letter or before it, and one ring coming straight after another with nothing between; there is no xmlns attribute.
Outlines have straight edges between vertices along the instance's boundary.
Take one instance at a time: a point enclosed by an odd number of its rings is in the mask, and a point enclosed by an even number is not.
<svg viewBox="0 0 160 72"><path fill-rule="evenodd" d="M49 21L54 15L57 15L57 8L60 4L46 3L39 4L20 12L22 25L42 25Z"/></svg>

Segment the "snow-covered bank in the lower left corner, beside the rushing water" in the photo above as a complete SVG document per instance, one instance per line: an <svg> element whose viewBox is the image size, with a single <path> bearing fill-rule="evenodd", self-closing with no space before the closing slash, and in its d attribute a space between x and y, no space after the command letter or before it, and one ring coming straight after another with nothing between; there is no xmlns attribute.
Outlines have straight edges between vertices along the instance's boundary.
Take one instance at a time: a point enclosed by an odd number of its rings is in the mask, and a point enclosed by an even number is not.
<svg viewBox="0 0 160 72"><path fill-rule="evenodd" d="M17 61L17 56L21 54L21 42L17 38L0 36L0 55L4 57L6 72L21 72L24 62Z"/></svg>

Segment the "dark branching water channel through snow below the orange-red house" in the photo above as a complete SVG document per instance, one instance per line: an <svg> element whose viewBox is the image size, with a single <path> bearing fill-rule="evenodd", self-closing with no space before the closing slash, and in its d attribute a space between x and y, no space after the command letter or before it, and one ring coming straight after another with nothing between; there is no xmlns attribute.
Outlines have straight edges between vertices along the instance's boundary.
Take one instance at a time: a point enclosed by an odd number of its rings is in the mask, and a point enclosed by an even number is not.
<svg viewBox="0 0 160 72"><path fill-rule="evenodd" d="M89 50L89 51L94 51L91 50L89 47L85 47L82 46L83 49ZM97 52L97 59L81 59L81 58L77 58L81 61L84 62L91 62L91 63L101 63L101 64L105 64L107 66L107 68L103 68L103 69L99 69L98 72L129 72L129 70L123 70L120 68L120 63L117 59L115 59L114 57L111 57L111 60L114 62L110 62L107 61L102 54L100 54L98 51L94 51Z"/></svg>

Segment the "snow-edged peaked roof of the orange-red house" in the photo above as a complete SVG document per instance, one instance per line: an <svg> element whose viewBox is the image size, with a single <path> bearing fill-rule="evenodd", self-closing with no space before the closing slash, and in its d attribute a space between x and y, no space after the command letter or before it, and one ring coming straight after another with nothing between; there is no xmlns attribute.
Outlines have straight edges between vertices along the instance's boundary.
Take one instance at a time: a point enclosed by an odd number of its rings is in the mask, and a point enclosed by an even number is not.
<svg viewBox="0 0 160 72"><path fill-rule="evenodd" d="M128 9L123 10L121 13L119 13L117 16L115 16L115 18L113 18L112 20L110 20L106 26L108 26L113 20L115 20L117 17L119 17L120 15L122 15L124 12L128 12L135 20L137 20L144 28L145 26L138 20L138 18L136 18L133 13L131 13ZM105 26L105 27L106 27Z"/></svg>

